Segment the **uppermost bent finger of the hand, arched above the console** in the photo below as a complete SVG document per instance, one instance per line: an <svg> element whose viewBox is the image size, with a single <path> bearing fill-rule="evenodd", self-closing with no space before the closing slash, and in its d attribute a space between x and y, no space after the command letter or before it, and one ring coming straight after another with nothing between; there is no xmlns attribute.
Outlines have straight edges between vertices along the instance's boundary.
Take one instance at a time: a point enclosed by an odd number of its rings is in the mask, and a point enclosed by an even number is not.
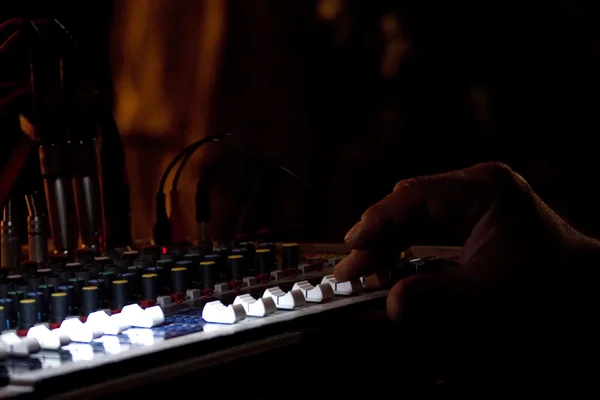
<svg viewBox="0 0 600 400"><path fill-rule="evenodd" d="M445 228L451 228L444 232L452 236L448 239L464 241L503 187L514 186L513 173L507 169L502 164L478 164L402 181L363 214L346 241L353 248L370 249L394 238L406 248Z"/></svg>

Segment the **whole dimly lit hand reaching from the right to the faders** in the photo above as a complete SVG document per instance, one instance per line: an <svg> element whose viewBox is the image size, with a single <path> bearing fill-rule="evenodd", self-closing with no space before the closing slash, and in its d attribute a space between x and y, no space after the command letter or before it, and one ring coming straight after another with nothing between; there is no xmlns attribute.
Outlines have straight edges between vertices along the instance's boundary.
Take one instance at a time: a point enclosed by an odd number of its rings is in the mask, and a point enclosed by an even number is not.
<svg viewBox="0 0 600 400"><path fill-rule="evenodd" d="M335 276L376 272L432 236L464 243L460 265L401 280L387 310L402 332L460 355L469 347L489 354L539 342L533 332L571 311L565 308L581 287L578 271L599 259L598 243L561 220L522 177L485 163L398 183L348 232L353 250ZM544 343L553 332L543 333Z"/></svg>

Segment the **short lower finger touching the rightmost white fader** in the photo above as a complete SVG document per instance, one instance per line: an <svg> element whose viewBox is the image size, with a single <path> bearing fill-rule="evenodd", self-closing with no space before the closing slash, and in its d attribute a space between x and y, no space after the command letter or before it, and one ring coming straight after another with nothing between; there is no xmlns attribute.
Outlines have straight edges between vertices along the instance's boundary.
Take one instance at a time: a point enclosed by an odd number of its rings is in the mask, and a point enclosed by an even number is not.
<svg viewBox="0 0 600 400"><path fill-rule="evenodd" d="M346 282L389 268L397 260L397 254L394 253L374 255L364 250L353 250L335 266L333 275L338 281Z"/></svg>

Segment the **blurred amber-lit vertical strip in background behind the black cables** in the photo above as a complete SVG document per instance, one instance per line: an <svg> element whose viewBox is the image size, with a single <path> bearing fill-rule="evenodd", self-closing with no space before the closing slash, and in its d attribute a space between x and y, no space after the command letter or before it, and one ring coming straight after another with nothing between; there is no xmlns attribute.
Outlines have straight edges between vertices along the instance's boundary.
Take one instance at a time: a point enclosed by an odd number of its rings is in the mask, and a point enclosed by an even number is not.
<svg viewBox="0 0 600 400"><path fill-rule="evenodd" d="M170 159L185 144L208 134L225 7L226 2L219 0L123 1L115 7L115 118L127 158L134 238L151 237L150 194ZM144 142L156 146L156 154ZM189 169L193 168L190 162ZM180 187L195 187L193 174L183 174ZM193 191L185 194L183 206L191 209ZM193 219L186 224L185 231L193 234Z"/></svg>

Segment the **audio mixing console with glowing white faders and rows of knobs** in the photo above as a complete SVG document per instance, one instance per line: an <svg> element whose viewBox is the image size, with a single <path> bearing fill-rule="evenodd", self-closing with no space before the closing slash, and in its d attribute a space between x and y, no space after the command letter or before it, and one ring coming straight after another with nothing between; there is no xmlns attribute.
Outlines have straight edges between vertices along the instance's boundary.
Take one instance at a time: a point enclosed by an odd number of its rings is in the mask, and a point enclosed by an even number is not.
<svg viewBox="0 0 600 400"><path fill-rule="evenodd" d="M111 257L80 251L77 262L54 258L39 269L24 262L0 279L0 373L8 387L33 388L82 368L381 299L390 279L438 260L406 257L383 281L338 282L333 267L346 251L241 242Z"/></svg>

